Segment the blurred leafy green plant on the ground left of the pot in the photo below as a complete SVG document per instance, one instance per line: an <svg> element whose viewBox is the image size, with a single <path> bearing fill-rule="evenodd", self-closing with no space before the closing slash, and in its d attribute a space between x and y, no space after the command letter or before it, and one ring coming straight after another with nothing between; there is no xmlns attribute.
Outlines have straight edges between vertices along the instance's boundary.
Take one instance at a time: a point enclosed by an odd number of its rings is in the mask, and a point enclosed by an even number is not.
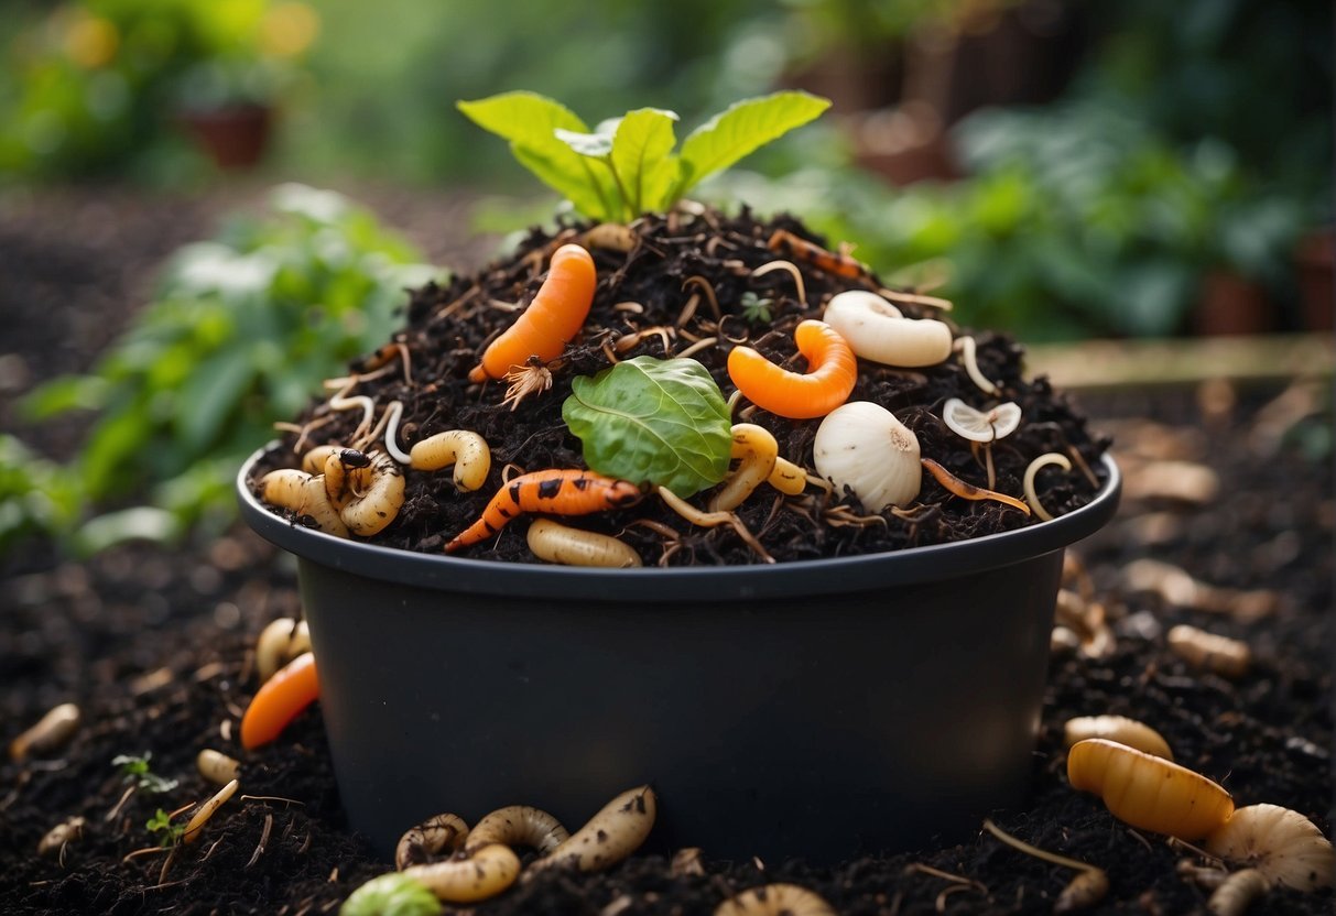
<svg viewBox="0 0 1336 916"><path fill-rule="evenodd" d="M323 379L385 342L405 288L438 275L418 262L365 210L297 184L277 188L263 218L182 248L154 302L94 373L55 379L25 399L36 421L96 414L57 475L87 506L152 503L83 523L75 546L230 519L242 458L273 435L274 418L299 411ZM31 502L4 495L0 519ZM52 513L71 517L64 503Z"/></svg>

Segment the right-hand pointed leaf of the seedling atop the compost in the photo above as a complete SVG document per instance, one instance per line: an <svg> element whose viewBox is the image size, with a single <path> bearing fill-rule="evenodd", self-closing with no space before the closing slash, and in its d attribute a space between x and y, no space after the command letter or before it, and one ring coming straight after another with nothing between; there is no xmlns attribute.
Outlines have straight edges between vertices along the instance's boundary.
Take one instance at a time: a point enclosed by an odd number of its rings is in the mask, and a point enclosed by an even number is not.
<svg viewBox="0 0 1336 916"><path fill-rule="evenodd" d="M701 124L681 144L681 178L675 196L715 172L728 168L830 108L830 99L802 91L745 99Z"/></svg>

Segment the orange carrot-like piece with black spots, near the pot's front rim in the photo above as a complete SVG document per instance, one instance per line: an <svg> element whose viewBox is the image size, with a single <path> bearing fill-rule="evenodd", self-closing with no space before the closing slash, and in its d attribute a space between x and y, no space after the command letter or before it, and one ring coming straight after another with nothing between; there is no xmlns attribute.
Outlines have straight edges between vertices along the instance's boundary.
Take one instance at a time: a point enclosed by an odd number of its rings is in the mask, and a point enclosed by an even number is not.
<svg viewBox="0 0 1336 916"><path fill-rule="evenodd" d="M502 486L482 518L445 545L446 553L477 543L500 531L516 515L541 511L552 515L588 515L623 509L640 499L640 487L580 469L550 469L521 474Z"/></svg>

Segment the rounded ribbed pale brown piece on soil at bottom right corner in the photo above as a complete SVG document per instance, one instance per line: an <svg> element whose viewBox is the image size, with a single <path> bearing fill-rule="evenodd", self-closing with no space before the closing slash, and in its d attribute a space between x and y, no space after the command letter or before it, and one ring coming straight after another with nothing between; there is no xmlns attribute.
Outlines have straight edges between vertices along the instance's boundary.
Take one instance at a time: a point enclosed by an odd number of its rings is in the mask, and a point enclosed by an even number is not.
<svg viewBox="0 0 1336 916"><path fill-rule="evenodd" d="M1336 851L1331 840L1297 811L1280 805L1246 805L1216 828L1206 852L1234 865L1260 871L1268 881L1312 892L1332 885Z"/></svg>

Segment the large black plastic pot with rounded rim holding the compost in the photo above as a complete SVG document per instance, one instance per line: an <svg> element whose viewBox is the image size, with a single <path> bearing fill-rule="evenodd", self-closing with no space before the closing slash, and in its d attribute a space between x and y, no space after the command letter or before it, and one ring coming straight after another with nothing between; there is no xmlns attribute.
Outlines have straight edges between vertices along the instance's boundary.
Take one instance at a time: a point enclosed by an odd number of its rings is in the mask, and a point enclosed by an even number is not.
<svg viewBox="0 0 1336 916"><path fill-rule="evenodd" d="M530 804L578 827L653 784L651 845L836 861L1023 800L1065 547L1118 502L939 546L774 566L578 569L246 521L298 557L351 825Z"/></svg>

